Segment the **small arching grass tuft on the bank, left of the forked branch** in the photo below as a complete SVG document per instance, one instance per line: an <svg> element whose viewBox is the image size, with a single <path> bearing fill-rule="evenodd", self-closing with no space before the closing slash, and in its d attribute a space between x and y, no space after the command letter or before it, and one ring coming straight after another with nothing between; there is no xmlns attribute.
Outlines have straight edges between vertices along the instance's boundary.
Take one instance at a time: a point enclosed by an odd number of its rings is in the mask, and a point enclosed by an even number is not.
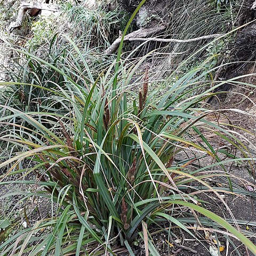
<svg viewBox="0 0 256 256"><path fill-rule="evenodd" d="M90 45L95 51L105 50L123 31L129 15L124 10L116 7L107 10L106 4L98 3L93 8L84 5L63 4L65 18L62 20L61 29L69 27L72 38L79 39L79 47ZM76 41L78 43L78 41Z"/></svg>

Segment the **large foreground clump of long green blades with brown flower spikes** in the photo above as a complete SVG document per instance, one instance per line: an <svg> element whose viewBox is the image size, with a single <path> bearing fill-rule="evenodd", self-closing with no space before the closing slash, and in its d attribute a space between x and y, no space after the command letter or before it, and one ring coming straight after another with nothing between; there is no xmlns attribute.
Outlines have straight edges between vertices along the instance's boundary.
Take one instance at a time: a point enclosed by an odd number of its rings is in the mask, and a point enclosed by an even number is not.
<svg viewBox="0 0 256 256"><path fill-rule="evenodd" d="M17 106L6 98L0 105L0 140L7 149L0 163L0 185L33 185L36 192L21 193L21 202L49 198L52 212L2 243L0 255L116 255L123 247L134 255L138 243L145 245L147 255L160 255L153 231L166 231L167 223L169 236L180 229L195 237L191 219L202 228L225 229L227 239L235 236L256 253L219 190L204 181L221 176L229 182L221 192L234 193L226 163L247 161L253 166L254 158L225 111L205 108L205 100L223 82L204 81L212 70L202 68L173 81L174 72L165 82L156 81L157 86L149 83L146 68L142 79L133 81L154 53L127 61L121 58L121 42L117 59L97 70L89 68L87 55L73 41L67 41L60 55L51 51L58 56L55 61L17 50L26 55L30 69L21 69L26 83L10 85L29 86L26 96L34 94L41 103L31 108L28 100ZM210 89L196 93L209 84ZM230 149L243 157L237 159ZM230 159L223 160L223 155ZM195 164L202 158L222 171ZM32 173L34 177L26 179ZM200 194L207 192L220 199L237 229L203 207Z"/></svg>

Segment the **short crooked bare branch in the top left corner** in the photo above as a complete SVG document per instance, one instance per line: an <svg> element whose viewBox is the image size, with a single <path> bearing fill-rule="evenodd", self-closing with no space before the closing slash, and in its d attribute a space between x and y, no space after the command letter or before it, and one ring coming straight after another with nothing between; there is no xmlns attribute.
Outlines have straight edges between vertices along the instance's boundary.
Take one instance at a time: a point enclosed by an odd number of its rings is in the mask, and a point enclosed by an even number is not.
<svg viewBox="0 0 256 256"><path fill-rule="evenodd" d="M24 20L24 16L27 11L29 11L29 15L33 17L38 11L40 10L47 10L47 11L52 11L56 12L58 11L57 9L54 9L51 7L49 4L41 4L41 3L36 3L36 4L29 4L29 3L23 3L19 7L19 12L18 12L18 17L17 20L12 22L10 26L8 27L9 33L11 33L14 29L19 29L22 26L22 22Z"/></svg>

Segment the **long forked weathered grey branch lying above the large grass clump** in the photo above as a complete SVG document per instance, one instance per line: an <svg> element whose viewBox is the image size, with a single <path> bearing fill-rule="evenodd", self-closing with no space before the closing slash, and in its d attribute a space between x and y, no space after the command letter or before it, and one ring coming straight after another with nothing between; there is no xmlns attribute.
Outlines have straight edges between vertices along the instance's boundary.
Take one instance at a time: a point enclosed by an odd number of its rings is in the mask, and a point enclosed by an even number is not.
<svg viewBox="0 0 256 256"><path fill-rule="evenodd" d="M191 39L167 39L167 38L158 38L158 37L147 37L149 34L156 33L158 31L163 30L165 27L159 27L159 28L148 28L148 29L139 29L136 30L127 36L124 37L124 41L155 41L155 42L163 42L163 43L191 43L211 38L216 38L219 36L222 36L222 34L213 34L208 36L200 36L196 38ZM117 38L116 41L105 51L107 54L114 53L121 42L121 37Z"/></svg>

